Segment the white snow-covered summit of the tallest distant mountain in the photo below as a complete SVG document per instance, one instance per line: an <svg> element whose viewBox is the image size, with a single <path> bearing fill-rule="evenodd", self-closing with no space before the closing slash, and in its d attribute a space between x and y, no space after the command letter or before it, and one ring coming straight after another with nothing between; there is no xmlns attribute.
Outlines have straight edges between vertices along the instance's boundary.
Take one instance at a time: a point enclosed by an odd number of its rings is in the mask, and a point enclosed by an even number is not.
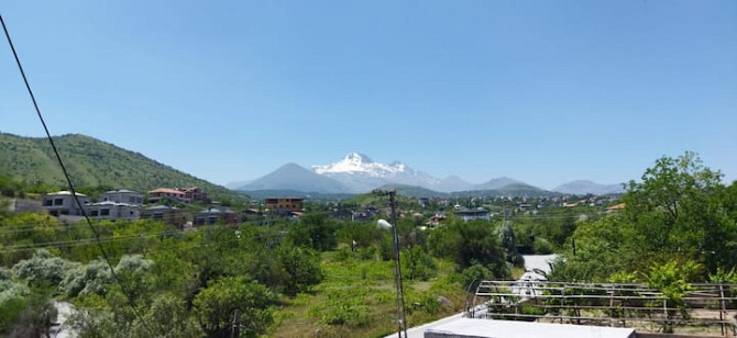
<svg viewBox="0 0 737 338"><path fill-rule="evenodd" d="M351 153L334 164L312 166L312 170L319 174L350 173L387 178L405 172L407 167L402 162L377 164L361 153Z"/></svg>

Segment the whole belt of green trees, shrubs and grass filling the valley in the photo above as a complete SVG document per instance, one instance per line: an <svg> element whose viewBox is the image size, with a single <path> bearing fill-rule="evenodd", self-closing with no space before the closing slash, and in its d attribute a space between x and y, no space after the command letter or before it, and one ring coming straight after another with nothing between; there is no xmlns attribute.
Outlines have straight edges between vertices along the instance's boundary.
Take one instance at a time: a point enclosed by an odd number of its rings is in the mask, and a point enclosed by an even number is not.
<svg viewBox="0 0 737 338"><path fill-rule="evenodd" d="M13 194L28 189L4 182ZM659 159L628 187L626 207L614 214L585 205L509 213L507 222L451 214L422 229L406 213L396 226L408 325L461 311L474 280L520 273L522 249L561 255L551 280L637 281L661 290L674 308L693 282L737 281L735 183L725 187L688 153ZM386 205L370 195L346 204L363 202ZM497 211L507 214L508 201L501 202ZM399 209L413 207L400 200ZM152 221L101 222L109 266L84 223L0 213L0 331L42 336L53 302L65 301L77 308L70 323L81 337L392 333L392 233L375 219L329 214L310 207L298 222L189 233Z"/></svg>

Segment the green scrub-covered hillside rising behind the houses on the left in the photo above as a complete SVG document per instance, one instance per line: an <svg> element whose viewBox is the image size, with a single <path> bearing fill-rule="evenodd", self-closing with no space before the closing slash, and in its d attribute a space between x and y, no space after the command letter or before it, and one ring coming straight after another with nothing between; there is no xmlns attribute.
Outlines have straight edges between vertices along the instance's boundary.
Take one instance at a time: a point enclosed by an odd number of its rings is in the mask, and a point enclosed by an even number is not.
<svg viewBox="0 0 737 338"><path fill-rule="evenodd" d="M158 187L201 187L216 198L242 198L234 191L89 136L56 136L54 143L78 188L109 185L146 192ZM0 172L14 180L66 187L46 138L0 133Z"/></svg>

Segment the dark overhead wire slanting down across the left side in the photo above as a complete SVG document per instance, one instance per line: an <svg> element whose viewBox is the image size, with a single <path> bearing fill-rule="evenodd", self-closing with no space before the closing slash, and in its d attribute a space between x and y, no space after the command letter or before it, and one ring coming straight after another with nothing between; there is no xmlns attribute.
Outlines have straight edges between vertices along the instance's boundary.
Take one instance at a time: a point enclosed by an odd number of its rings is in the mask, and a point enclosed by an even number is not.
<svg viewBox="0 0 737 338"><path fill-rule="evenodd" d="M6 37L8 38L8 44L10 45L10 49L13 52L13 57L15 58L15 63L18 64L18 69L21 71L21 76L23 77L23 82L25 83L25 89L28 89L29 94L31 95L31 101L33 101L33 108L36 111L36 114L38 115L38 120L41 120L41 124L44 126L44 132L46 132L46 138L48 139L48 143L52 146L52 149L54 149L54 155L56 156L56 159L59 164L59 167L62 167L62 171L64 172L64 178L66 178L67 184L69 185L69 192L72 192L72 196L74 198L77 206L79 210L81 210L81 214L87 221L87 224L89 225L90 229L92 230L92 234L95 235L95 239L98 244L98 247L100 248L100 251L102 252L102 258L105 261L108 263L108 267L110 268L110 272L112 277L114 278L116 282L120 285L121 290L125 294L129 301L129 305L133 309L133 313L135 316L141 320L143 326L146 328L148 334L151 336L154 336L154 333L148 327L148 323L141 316L141 314L138 312L135 308L135 303L133 301L133 297L131 297L130 292L128 292L125 285L121 282L120 278L116 273L116 269L112 267L112 263L110 262L110 258L108 257L108 252L105 251L105 247L102 246L102 243L100 241L100 234L98 233L97 228L95 225L92 225L92 222L89 219L87 216L87 212L85 211L85 207L81 205L81 202L79 201L79 198L77 198L77 193L74 190L74 184L72 183L72 179L69 178L69 173L66 170L66 167L64 166L64 161L62 161L62 156L59 155L58 150L56 149L56 144L54 144L54 139L52 138L51 133L48 132L48 127L46 126L46 122L44 121L43 115L41 114L41 110L38 109L38 103L36 102L36 98L33 94L33 90L31 90L31 84L29 84L29 79L25 76L25 71L23 71L23 66L21 66L21 59L18 57L18 53L15 53L15 47L13 46L13 42L10 38L10 33L8 33L8 27L6 26L6 21L2 20L2 15L0 15L0 23L2 24L2 30L6 33Z"/></svg>

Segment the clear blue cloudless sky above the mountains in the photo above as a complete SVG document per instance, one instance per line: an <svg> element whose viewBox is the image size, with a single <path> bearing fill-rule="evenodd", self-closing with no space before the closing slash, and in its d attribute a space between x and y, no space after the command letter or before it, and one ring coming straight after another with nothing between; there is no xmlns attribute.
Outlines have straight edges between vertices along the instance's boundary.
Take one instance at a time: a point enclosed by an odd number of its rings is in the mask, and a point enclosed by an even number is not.
<svg viewBox="0 0 737 338"><path fill-rule="evenodd" d="M351 151L472 182L737 179L737 1L0 4L53 134L216 183ZM43 129L7 43L0 131Z"/></svg>

